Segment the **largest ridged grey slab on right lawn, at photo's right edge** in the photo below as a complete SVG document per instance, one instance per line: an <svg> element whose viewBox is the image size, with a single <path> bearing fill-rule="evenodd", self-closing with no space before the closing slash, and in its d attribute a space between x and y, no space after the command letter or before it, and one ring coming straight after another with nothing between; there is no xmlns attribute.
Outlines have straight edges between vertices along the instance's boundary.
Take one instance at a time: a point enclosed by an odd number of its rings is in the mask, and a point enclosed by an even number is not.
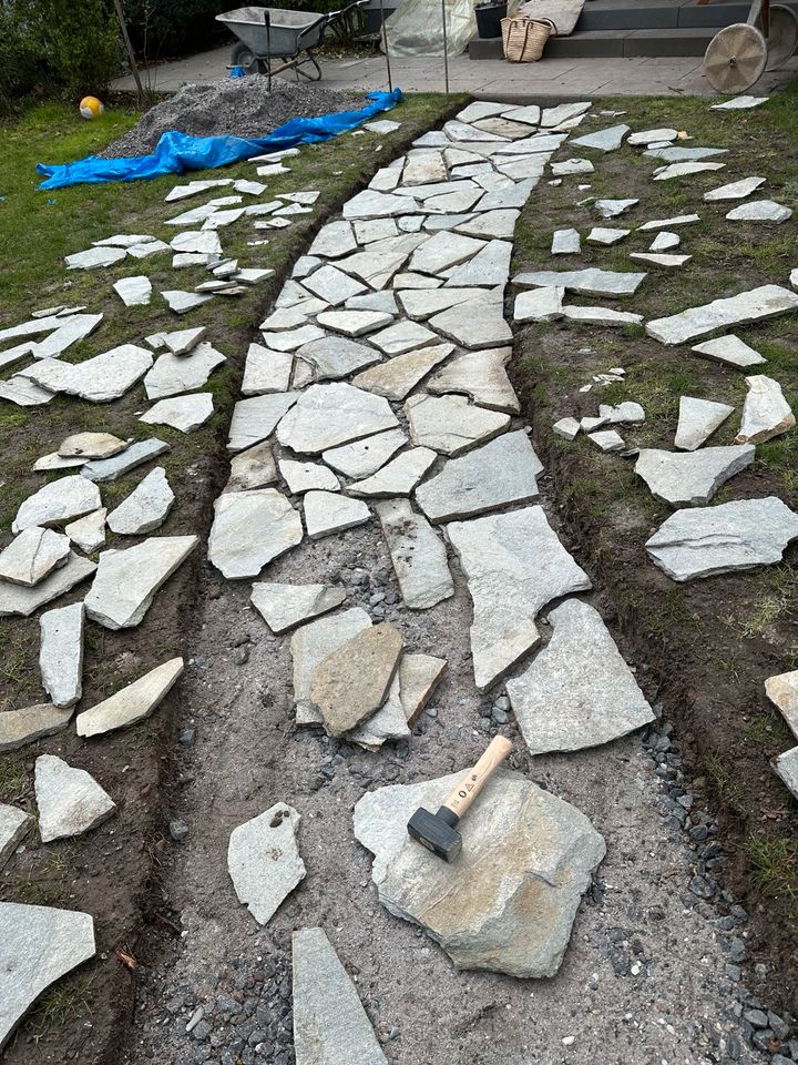
<svg viewBox="0 0 798 1065"><path fill-rule="evenodd" d="M798 515L776 496L678 510L646 542L655 566L686 581L778 562L798 538Z"/></svg>

